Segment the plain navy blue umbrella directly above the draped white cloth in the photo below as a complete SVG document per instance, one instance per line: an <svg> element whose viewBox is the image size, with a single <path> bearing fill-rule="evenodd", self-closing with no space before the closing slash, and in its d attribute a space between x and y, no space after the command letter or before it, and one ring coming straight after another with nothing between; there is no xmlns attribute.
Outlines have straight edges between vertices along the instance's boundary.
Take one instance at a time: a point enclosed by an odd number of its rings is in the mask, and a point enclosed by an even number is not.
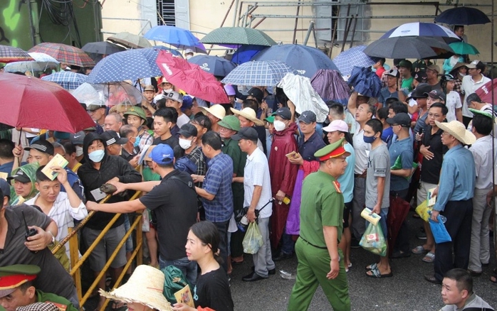
<svg viewBox="0 0 497 311"><path fill-rule="evenodd" d="M319 69L338 70L321 50L300 44L273 45L257 53L252 60L279 60L308 78L313 77Z"/></svg>

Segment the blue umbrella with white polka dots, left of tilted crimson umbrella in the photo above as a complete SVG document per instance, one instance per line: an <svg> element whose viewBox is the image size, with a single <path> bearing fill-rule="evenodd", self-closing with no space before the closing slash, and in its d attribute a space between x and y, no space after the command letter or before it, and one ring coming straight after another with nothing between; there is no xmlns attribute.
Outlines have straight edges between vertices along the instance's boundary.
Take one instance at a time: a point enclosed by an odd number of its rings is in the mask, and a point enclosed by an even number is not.
<svg viewBox="0 0 497 311"><path fill-rule="evenodd" d="M155 48L139 48L109 55L95 65L86 82L136 81L145 77L160 76L162 72L155 63L158 53L159 50Z"/></svg>

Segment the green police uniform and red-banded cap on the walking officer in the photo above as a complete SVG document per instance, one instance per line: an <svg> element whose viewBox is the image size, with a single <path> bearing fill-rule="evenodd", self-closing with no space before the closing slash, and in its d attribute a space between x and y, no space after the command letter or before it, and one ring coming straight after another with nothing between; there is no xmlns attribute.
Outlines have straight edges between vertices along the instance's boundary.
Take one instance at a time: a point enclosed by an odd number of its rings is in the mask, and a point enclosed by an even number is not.
<svg viewBox="0 0 497 311"><path fill-rule="evenodd" d="M343 140L328 145L315 153L324 161L345 153ZM335 153L334 153L335 151ZM328 157L328 158L327 158ZM288 301L288 310L307 310L318 285L321 285L333 310L350 310L347 274L340 255L340 271L333 280L330 272L330 253L326 247L323 226L337 227L338 242L343 229L343 195L333 176L318 170L305 178L300 203L300 238L295 244L298 257L297 278Z"/></svg>

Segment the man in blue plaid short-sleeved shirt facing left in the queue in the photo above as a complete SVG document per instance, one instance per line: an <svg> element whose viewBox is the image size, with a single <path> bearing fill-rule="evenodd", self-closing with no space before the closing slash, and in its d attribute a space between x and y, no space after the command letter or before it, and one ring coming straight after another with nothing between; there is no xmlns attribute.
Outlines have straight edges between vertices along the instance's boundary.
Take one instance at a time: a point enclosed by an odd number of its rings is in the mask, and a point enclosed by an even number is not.
<svg viewBox="0 0 497 311"><path fill-rule="evenodd" d="M233 160L221 151L221 136L209 131L202 136L202 152L209 158L207 173L204 177L193 175L194 182L204 182L202 188L195 187L197 195L202 197L205 209L205 219L216 225L221 239L219 252L223 258L222 266L228 271L228 225L233 214ZM203 178L204 180L198 180Z"/></svg>

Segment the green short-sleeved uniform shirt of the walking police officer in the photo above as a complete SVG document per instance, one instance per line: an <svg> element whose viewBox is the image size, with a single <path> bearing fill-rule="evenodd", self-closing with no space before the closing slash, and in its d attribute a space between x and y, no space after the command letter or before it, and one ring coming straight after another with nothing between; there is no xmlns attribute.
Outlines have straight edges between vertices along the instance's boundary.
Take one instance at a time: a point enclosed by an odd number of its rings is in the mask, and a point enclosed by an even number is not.
<svg viewBox="0 0 497 311"><path fill-rule="evenodd" d="M326 248L323 226L343 229L343 195L333 185L333 176L318 170L305 178L300 203L300 236L313 246ZM338 182L336 183L338 186Z"/></svg>

